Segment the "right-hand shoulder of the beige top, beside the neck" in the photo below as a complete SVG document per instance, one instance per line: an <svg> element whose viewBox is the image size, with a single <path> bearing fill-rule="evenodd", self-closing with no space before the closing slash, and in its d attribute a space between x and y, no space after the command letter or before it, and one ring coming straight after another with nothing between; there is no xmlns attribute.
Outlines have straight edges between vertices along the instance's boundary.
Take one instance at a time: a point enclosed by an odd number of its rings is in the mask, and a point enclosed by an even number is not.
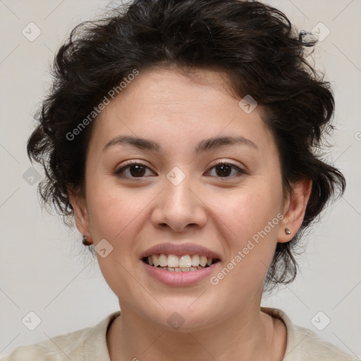
<svg viewBox="0 0 361 361"><path fill-rule="evenodd" d="M310 329L291 322L285 312L276 308L261 307L263 312L281 319L287 329L286 353L283 361L360 361L353 355L344 353L335 345L322 340Z"/></svg>

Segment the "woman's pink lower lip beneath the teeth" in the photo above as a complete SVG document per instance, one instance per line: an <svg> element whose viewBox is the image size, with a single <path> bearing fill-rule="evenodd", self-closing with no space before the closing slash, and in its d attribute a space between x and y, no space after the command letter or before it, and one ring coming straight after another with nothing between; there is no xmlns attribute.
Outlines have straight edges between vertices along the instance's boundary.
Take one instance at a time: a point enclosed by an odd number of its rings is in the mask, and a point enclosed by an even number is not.
<svg viewBox="0 0 361 361"><path fill-rule="evenodd" d="M220 264L218 261L207 268L198 269L197 271L172 272L167 271L166 269L160 269L159 267L149 266L149 264L143 262L142 260L140 260L140 262L142 262L147 273L154 277L154 279L157 279L168 286L178 287L190 286L206 279L216 270L217 267L219 267Z"/></svg>

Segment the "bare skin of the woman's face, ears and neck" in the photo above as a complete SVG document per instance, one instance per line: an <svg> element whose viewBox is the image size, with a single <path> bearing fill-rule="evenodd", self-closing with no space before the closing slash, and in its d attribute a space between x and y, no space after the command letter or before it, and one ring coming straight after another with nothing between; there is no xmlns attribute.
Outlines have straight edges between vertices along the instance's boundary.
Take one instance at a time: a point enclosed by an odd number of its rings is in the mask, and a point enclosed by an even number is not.
<svg viewBox="0 0 361 361"><path fill-rule="evenodd" d="M140 71L94 124L85 198L69 193L80 233L94 245L106 239L114 247L97 255L121 307L106 336L112 361L283 359L286 329L260 311L262 288L276 244L288 242L302 224L311 181L301 180L283 198L274 137L259 107L243 111L224 79L216 71L196 78L175 69ZM162 151L114 145L102 152L118 135L147 138ZM195 157L198 142L221 135L241 135L258 149L225 145ZM123 178L115 174L130 160L148 167L143 178L134 168ZM221 160L247 173L231 168L221 177L214 168ZM166 178L174 166L185 174L179 185ZM166 286L142 267L147 248L190 242L218 253L220 270L279 213L279 224L216 286L209 278ZM185 321L177 330L167 322L173 312Z"/></svg>

